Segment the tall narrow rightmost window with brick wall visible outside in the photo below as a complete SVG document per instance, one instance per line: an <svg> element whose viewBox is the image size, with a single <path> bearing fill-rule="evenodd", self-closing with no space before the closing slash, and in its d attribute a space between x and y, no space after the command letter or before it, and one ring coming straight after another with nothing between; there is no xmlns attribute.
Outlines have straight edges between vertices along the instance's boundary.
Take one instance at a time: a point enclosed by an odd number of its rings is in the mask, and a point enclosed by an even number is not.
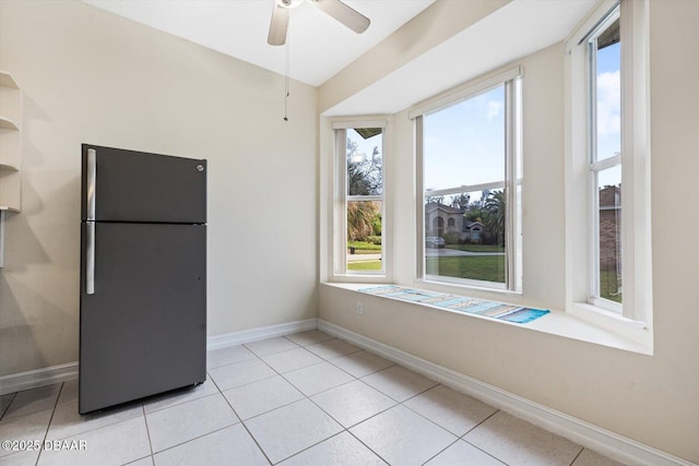
<svg viewBox="0 0 699 466"><path fill-rule="evenodd" d="M643 325L652 297L647 43L647 1L621 0L602 2L566 44L569 307Z"/></svg>

